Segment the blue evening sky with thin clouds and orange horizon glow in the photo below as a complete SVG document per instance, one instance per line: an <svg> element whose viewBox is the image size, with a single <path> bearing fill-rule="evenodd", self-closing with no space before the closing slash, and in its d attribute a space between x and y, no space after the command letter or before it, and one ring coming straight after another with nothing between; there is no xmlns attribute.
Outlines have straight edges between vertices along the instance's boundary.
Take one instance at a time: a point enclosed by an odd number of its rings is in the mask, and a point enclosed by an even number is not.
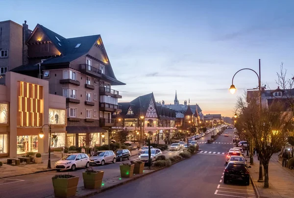
<svg viewBox="0 0 294 198"><path fill-rule="evenodd" d="M232 117L238 96L257 87L252 71L276 89L281 62L294 73L293 0L0 0L0 21L44 25L65 38L100 34L131 101L199 104L204 114Z"/></svg>

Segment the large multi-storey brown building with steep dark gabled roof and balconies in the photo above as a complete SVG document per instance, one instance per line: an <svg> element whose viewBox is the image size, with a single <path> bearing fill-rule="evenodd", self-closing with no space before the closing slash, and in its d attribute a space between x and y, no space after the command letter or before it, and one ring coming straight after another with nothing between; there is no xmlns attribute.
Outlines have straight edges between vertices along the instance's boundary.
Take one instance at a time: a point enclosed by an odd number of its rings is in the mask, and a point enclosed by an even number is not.
<svg viewBox="0 0 294 198"><path fill-rule="evenodd" d="M101 36L65 38L37 24L25 47L28 63L10 71L47 80L50 94L66 98L67 146L84 146L89 134L92 145L108 144L107 130L121 124L112 114L122 112L122 96L112 86L124 83L113 72Z"/></svg>

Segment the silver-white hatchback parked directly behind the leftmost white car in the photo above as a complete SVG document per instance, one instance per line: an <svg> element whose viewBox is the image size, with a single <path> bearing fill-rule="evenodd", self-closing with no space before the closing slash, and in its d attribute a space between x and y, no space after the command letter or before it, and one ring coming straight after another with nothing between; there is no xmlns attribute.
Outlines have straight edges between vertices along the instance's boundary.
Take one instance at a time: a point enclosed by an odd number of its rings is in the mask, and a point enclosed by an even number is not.
<svg viewBox="0 0 294 198"><path fill-rule="evenodd" d="M116 162L116 155L112 150L100 150L90 157L91 165L101 164L103 166L105 163L111 162Z"/></svg>

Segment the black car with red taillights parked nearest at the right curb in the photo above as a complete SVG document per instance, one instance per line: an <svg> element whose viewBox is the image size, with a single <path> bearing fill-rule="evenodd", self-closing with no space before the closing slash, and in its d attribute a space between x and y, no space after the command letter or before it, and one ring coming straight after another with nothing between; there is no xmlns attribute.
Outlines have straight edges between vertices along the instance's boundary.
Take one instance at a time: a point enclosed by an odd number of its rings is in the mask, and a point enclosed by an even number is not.
<svg viewBox="0 0 294 198"><path fill-rule="evenodd" d="M223 183L227 181L245 181L246 185L249 185L250 172L245 162L229 162L224 170Z"/></svg>

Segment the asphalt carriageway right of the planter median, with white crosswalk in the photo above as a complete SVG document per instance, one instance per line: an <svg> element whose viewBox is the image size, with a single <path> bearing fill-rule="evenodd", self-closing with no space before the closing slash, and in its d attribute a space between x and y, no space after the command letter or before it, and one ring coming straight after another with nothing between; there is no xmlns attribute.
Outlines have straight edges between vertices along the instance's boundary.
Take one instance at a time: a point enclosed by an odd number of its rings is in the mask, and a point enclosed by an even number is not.
<svg viewBox="0 0 294 198"><path fill-rule="evenodd" d="M225 132L214 144L205 144L209 136L198 140L201 151L180 163L147 175L93 198L255 198L252 184L223 184L225 153L233 147L233 130ZM218 154L219 153L219 154ZM224 154L222 154L224 153Z"/></svg>

